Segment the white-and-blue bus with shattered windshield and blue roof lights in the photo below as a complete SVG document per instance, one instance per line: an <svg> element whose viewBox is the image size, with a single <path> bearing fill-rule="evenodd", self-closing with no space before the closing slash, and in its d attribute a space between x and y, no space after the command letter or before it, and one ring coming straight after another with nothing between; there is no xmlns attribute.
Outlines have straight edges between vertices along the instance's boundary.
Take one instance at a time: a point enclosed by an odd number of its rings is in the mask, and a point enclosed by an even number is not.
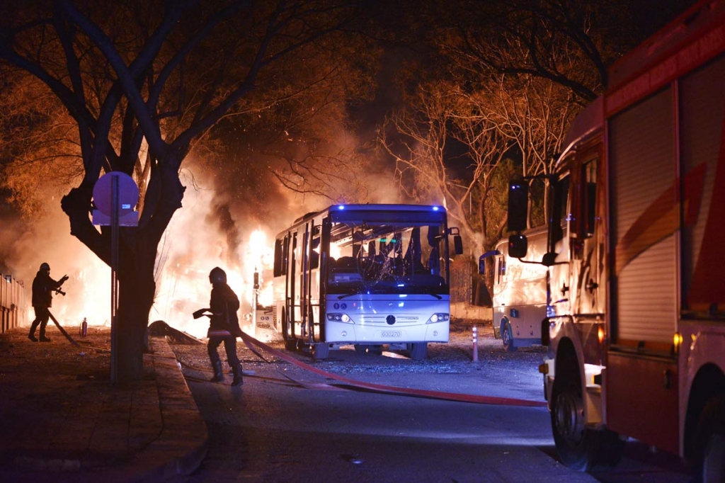
<svg viewBox="0 0 725 483"><path fill-rule="evenodd" d="M448 342L449 235L446 210L430 205L334 205L308 213L276 236L273 323L288 350L316 359Z"/></svg>

